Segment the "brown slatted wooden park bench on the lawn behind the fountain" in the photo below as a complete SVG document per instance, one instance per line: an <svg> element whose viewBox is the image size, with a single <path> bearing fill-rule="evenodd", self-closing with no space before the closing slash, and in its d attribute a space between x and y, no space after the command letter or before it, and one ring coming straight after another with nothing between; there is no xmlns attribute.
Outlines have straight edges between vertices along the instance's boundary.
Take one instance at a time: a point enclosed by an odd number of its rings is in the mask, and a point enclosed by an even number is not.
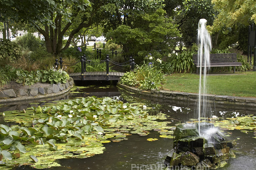
<svg viewBox="0 0 256 170"><path fill-rule="evenodd" d="M198 64L197 54L193 54L193 63L197 68L200 67L200 63ZM210 67L234 67L234 72L236 70L236 66L242 66L242 63L237 61L236 53L224 53L224 54L210 54ZM197 71L198 73L198 71Z"/></svg>

